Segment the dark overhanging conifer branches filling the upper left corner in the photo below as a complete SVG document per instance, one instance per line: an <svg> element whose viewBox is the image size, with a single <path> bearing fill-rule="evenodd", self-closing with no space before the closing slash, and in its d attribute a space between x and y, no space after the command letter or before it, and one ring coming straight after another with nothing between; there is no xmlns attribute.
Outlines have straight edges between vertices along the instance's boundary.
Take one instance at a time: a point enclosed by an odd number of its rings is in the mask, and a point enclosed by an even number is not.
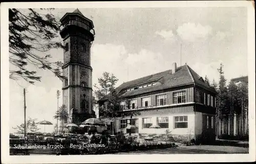
<svg viewBox="0 0 256 164"><path fill-rule="evenodd" d="M39 14L34 9L9 9L9 62L15 67L9 71L11 79L23 78L30 84L40 81L37 72L26 67L28 64L50 70L63 78L60 69L62 63L50 61L52 56L48 53L52 48L63 48L61 42L55 41L59 25L51 13Z"/></svg>

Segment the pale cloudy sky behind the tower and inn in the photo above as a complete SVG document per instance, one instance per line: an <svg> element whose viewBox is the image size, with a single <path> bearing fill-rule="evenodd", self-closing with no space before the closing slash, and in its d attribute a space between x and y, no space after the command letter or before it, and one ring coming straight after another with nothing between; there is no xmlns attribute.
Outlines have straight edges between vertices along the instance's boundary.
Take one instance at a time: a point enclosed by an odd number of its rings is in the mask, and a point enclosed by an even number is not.
<svg viewBox="0 0 256 164"><path fill-rule="evenodd" d="M60 19L75 9L55 9ZM243 7L207 8L89 8L79 9L94 23L95 41L91 47L93 84L104 71L125 81L171 69L185 63L200 76L219 79L224 75L244 76L247 71L247 10ZM46 12L46 11L44 11ZM61 40L60 36L57 38ZM53 61L63 61L63 50L50 51ZM11 68L12 66L10 66ZM41 81L30 85L10 79L10 132L24 121L23 88L26 88L27 117L38 121L53 119L57 111L56 91L61 81L46 70L37 70ZM62 97L59 99L59 106ZM12 119L13 118L13 119ZM54 125L46 125L52 132ZM39 125L40 131L44 126Z"/></svg>

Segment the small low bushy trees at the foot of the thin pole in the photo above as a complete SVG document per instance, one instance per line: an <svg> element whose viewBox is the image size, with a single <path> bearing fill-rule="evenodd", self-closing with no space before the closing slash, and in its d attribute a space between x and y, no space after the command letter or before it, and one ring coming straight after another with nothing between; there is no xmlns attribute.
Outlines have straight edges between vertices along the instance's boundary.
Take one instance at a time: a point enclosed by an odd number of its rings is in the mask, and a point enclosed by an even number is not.
<svg viewBox="0 0 256 164"><path fill-rule="evenodd" d="M40 128L37 127L36 121L37 119L31 119L29 117L29 119L26 122L26 131L27 132L37 132L38 130L40 130ZM24 123L20 124L19 126L17 125L17 127L13 127L13 129L15 129L17 131L17 133L24 133Z"/></svg>

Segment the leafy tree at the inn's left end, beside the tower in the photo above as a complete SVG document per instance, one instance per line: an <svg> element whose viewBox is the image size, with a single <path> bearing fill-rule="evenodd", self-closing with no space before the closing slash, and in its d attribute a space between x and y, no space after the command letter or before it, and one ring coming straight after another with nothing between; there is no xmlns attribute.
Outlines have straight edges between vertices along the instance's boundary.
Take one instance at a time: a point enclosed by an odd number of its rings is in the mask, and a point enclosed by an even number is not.
<svg viewBox="0 0 256 164"><path fill-rule="evenodd" d="M95 84L97 89L94 93L96 100L99 102L99 116L100 118L111 119L114 123L117 117L133 116L136 111L121 112L121 99L119 93L115 88L118 79L113 74L104 72L102 77L98 78L99 86ZM102 100L104 98L104 100ZM129 100L127 100L129 101ZM130 105L130 104L129 104ZM115 130L115 124L113 124Z"/></svg>

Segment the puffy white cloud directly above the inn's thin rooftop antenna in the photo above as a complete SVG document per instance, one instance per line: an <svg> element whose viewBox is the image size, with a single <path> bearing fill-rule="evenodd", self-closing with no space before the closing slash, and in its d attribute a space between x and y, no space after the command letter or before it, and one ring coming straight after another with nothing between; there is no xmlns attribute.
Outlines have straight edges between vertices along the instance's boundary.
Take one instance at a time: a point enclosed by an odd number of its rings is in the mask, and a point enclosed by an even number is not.
<svg viewBox="0 0 256 164"><path fill-rule="evenodd" d="M182 40L196 41L198 39L206 38L211 34L212 28L208 25L203 26L200 23L184 23L178 27L177 33Z"/></svg>

